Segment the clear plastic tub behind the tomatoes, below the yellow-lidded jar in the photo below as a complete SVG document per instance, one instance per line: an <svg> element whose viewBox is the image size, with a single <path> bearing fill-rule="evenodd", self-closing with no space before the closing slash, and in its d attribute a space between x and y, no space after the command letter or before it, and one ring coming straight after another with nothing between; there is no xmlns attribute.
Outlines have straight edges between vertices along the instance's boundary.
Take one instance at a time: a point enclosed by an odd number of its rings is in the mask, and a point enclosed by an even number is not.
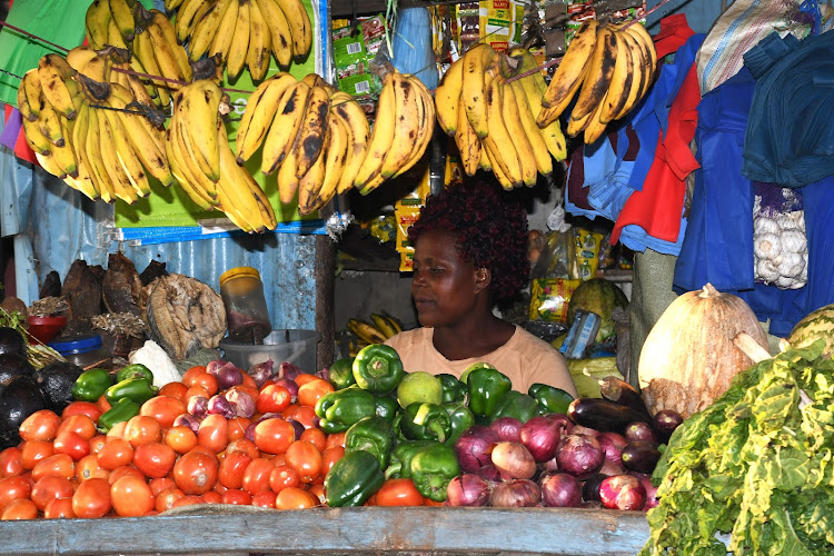
<svg viewBox="0 0 834 556"><path fill-rule="evenodd" d="M224 350L227 361L244 370L271 359L276 366L288 361L301 370L316 373L316 345L319 341L321 335L316 330L280 329L272 330L264 338L261 346L224 338L220 340L220 349Z"/></svg>

